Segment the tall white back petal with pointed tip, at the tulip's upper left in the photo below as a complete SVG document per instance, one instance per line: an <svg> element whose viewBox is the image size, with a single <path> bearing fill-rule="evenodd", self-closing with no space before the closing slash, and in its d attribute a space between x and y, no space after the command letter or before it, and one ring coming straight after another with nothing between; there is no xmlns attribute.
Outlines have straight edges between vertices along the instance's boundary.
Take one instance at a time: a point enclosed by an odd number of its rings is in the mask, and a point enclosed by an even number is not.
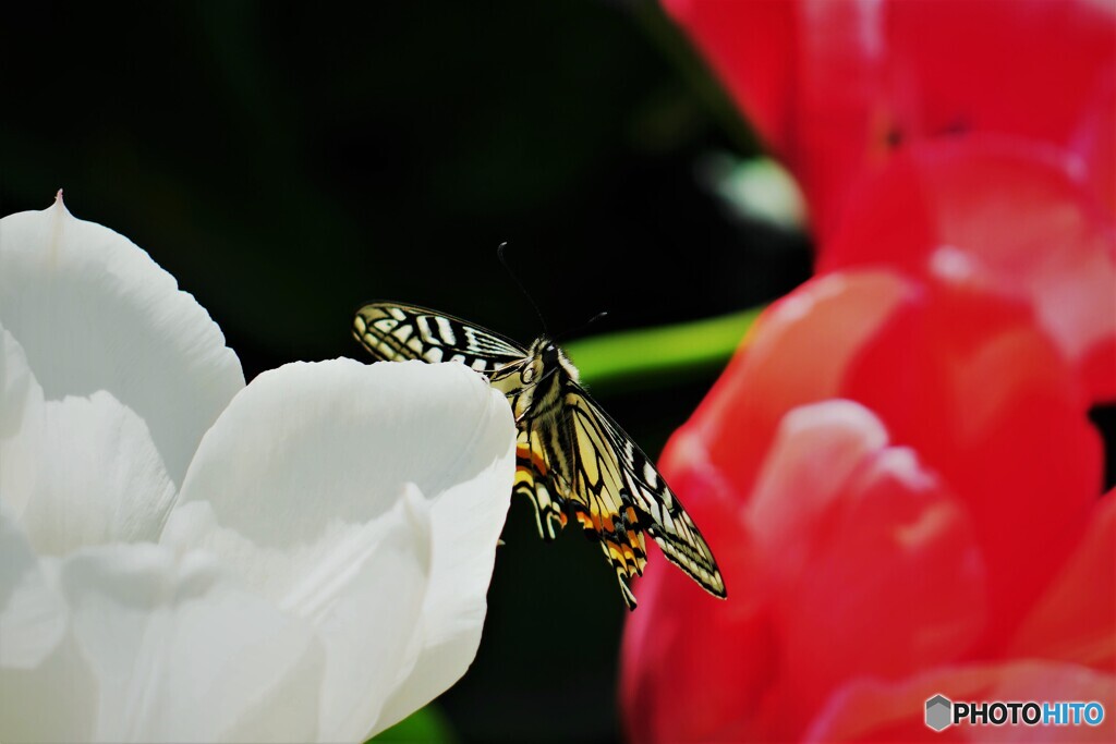
<svg viewBox="0 0 1116 744"><path fill-rule="evenodd" d="M60 199L0 220L0 320L47 399L108 390L146 422L175 482L244 385L221 330L174 277Z"/></svg>

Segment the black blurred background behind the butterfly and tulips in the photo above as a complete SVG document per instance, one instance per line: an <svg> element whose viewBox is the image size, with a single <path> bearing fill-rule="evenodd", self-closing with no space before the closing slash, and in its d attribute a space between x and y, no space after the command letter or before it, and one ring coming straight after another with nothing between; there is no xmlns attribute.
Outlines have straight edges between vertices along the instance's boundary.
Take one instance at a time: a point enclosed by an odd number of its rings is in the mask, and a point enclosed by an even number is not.
<svg viewBox="0 0 1116 744"><path fill-rule="evenodd" d="M66 192L194 294L251 379L364 359L364 301L521 341L743 310L809 274L801 230L732 196L760 154L651 3L83 3L6 8L0 213ZM575 358L576 361L576 358ZM655 456L716 368L596 390ZM463 741L619 737L626 610L576 530L512 504Z"/></svg>

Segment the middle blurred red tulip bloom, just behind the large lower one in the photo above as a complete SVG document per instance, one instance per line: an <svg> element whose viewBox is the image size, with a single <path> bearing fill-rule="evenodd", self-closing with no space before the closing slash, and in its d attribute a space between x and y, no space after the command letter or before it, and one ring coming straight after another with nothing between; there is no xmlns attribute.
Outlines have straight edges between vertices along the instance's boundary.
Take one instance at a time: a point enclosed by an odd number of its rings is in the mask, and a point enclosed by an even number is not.
<svg viewBox="0 0 1116 744"><path fill-rule="evenodd" d="M1116 229L1057 151L987 135L915 145L853 203L820 252L820 272L947 272L1019 299L1090 400L1116 400Z"/></svg>

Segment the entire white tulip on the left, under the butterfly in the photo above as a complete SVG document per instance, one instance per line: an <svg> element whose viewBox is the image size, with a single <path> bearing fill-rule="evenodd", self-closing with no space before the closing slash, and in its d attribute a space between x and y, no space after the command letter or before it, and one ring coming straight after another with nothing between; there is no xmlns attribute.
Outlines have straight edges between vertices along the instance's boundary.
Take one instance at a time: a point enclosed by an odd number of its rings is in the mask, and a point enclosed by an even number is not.
<svg viewBox="0 0 1116 744"><path fill-rule="evenodd" d="M60 197L0 220L0 741L360 741L464 674L514 470L480 376L246 386Z"/></svg>

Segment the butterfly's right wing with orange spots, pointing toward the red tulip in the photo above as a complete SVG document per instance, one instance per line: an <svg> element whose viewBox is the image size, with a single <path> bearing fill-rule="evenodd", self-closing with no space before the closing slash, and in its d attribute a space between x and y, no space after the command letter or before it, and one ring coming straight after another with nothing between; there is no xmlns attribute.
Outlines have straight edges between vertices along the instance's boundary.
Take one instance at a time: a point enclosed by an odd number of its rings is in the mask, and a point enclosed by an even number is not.
<svg viewBox="0 0 1116 744"><path fill-rule="evenodd" d="M647 455L574 383L566 406L575 437L575 513L599 538L628 607L635 608L628 582L647 563L644 532L672 563L723 598L724 579L709 544Z"/></svg>

